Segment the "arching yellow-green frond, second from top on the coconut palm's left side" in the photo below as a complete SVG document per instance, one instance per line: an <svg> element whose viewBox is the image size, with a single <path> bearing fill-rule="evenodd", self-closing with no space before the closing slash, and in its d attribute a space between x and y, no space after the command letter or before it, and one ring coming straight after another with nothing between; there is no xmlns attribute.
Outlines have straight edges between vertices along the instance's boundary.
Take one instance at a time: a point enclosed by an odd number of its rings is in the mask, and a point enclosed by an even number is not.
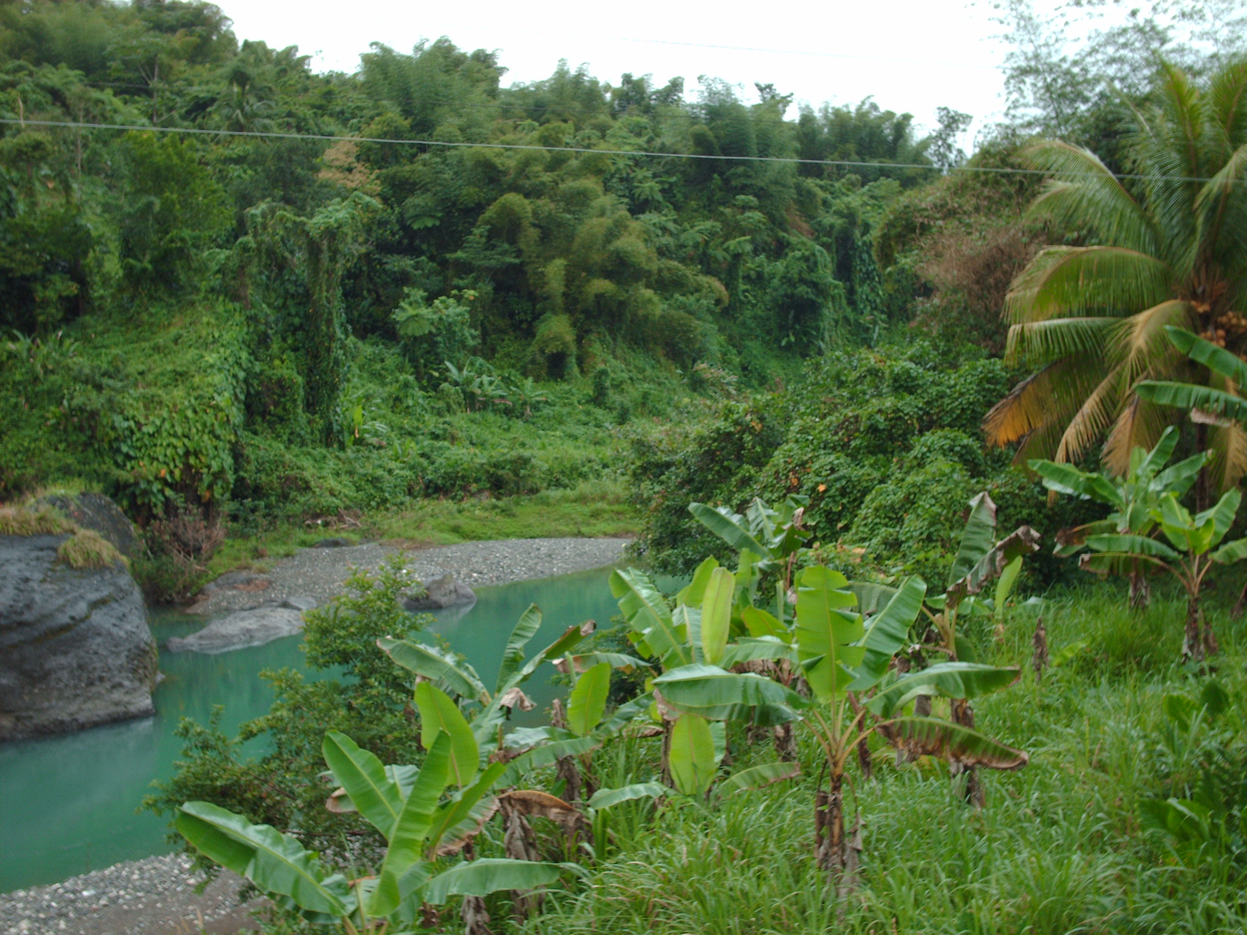
<svg viewBox="0 0 1247 935"><path fill-rule="evenodd" d="M1171 294L1172 271L1122 247L1047 247L1023 269L1005 297L1005 320L1069 315L1129 315Z"/></svg>

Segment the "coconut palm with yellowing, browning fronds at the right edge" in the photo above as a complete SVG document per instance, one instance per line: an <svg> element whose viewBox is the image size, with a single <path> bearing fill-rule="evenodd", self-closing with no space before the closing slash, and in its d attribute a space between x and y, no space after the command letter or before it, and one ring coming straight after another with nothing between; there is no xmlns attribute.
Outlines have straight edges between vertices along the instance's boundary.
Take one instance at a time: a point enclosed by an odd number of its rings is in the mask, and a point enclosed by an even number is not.
<svg viewBox="0 0 1247 935"><path fill-rule="evenodd" d="M1021 463L1075 461L1105 439L1105 466L1124 475L1131 450L1152 448L1181 415L1140 399L1140 381L1226 389L1166 339L1166 325L1247 350L1247 61L1206 82L1162 66L1125 152L1122 176L1065 142L1025 152L1051 173L1033 211L1090 246L1046 247L1005 300L1006 359L1033 373L984 428L996 445L1018 444ZM1202 423L1197 433L1217 453L1210 481L1236 484L1247 472L1243 429Z"/></svg>

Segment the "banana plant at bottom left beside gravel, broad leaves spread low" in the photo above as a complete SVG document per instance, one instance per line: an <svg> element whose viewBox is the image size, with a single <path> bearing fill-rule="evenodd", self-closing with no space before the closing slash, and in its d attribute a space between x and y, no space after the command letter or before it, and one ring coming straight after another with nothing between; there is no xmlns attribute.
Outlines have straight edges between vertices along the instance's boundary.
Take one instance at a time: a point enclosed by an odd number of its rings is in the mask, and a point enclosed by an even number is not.
<svg viewBox="0 0 1247 935"><path fill-rule="evenodd" d="M347 880L292 835L257 825L207 802L182 805L176 825L201 854L251 880L273 901L311 923L340 924L357 933L410 933L421 904L453 895L480 898L499 890L527 890L557 880L562 868L527 860L438 861L438 849L461 827L493 783L490 773L458 797L443 800L451 783L451 741L440 734L409 788L372 753L345 734L325 736L325 762L360 814L387 840L375 874ZM501 767L505 768L505 767Z"/></svg>

